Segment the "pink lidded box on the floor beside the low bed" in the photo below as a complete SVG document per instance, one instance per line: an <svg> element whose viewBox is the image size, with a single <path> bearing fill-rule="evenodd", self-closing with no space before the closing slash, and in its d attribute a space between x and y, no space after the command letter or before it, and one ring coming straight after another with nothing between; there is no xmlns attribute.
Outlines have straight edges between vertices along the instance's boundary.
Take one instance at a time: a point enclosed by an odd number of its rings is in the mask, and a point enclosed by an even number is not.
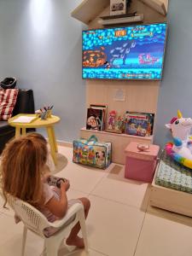
<svg viewBox="0 0 192 256"><path fill-rule="evenodd" d="M138 144L131 142L125 148L125 177L151 183L160 147L150 144L148 149L141 151Z"/></svg>

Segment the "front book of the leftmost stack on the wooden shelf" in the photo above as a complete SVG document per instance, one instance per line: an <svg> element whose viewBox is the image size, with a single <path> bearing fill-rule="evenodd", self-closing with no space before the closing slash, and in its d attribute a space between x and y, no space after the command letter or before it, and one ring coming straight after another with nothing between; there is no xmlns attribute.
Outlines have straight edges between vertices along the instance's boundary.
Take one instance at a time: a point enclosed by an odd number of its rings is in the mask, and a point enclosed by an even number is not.
<svg viewBox="0 0 192 256"><path fill-rule="evenodd" d="M102 131L103 109L88 108L86 129Z"/></svg>

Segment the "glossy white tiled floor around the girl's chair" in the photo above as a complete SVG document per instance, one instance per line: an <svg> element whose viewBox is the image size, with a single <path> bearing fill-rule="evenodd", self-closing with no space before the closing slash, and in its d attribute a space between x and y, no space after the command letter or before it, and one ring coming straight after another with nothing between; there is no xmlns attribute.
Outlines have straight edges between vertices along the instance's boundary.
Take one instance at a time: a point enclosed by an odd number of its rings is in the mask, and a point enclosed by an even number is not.
<svg viewBox="0 0 192 256"><path fill-rule="evenodd" d="M125 179L124 166L112 164L105 171L80 166L72 162L72 148L59 147L59 151L60 160L65 162L60 162L57 176L70 180L68 198L90 198L90 256L192 255L192 218L149 207L150 186ZM2 199L0 205L0 255L20 255L22 224L15 224L13 212L3 209ZM36 256L42 251L43 241L29 232L26 255ZM58 255L87 253L69 253L61 247Z"/></svg>

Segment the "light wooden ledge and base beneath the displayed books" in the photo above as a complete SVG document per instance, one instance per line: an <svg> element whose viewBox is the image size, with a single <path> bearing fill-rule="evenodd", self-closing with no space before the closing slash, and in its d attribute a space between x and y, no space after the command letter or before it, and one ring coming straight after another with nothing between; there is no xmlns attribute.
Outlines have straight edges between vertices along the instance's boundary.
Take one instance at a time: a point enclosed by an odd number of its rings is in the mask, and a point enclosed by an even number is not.
<svg viewBox="0 0 192 256"><path fill-rule="evenodd" d="M112 161L113 163L125 165L125 148L128 143L132 141L137 143L153 143L153 136L140 137L135 135L128 135L125 133L113 133L108 131L94 131L87 130L85 127L80 129L80 137L88 139L91 135L96 135L100 142L111 142L112 143Z"/></svg>

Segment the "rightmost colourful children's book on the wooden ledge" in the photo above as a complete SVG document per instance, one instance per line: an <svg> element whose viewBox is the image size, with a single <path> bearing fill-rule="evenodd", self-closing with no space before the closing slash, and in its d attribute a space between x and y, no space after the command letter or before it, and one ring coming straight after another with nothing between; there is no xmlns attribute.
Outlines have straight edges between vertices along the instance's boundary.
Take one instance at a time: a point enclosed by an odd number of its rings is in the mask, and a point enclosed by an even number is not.
<svg viewBox="0 0 192 256"><path fill-rule="evenodd" d="M136 136L151 136L153 134L154 113L125 113L125 133Z"/></svg>

